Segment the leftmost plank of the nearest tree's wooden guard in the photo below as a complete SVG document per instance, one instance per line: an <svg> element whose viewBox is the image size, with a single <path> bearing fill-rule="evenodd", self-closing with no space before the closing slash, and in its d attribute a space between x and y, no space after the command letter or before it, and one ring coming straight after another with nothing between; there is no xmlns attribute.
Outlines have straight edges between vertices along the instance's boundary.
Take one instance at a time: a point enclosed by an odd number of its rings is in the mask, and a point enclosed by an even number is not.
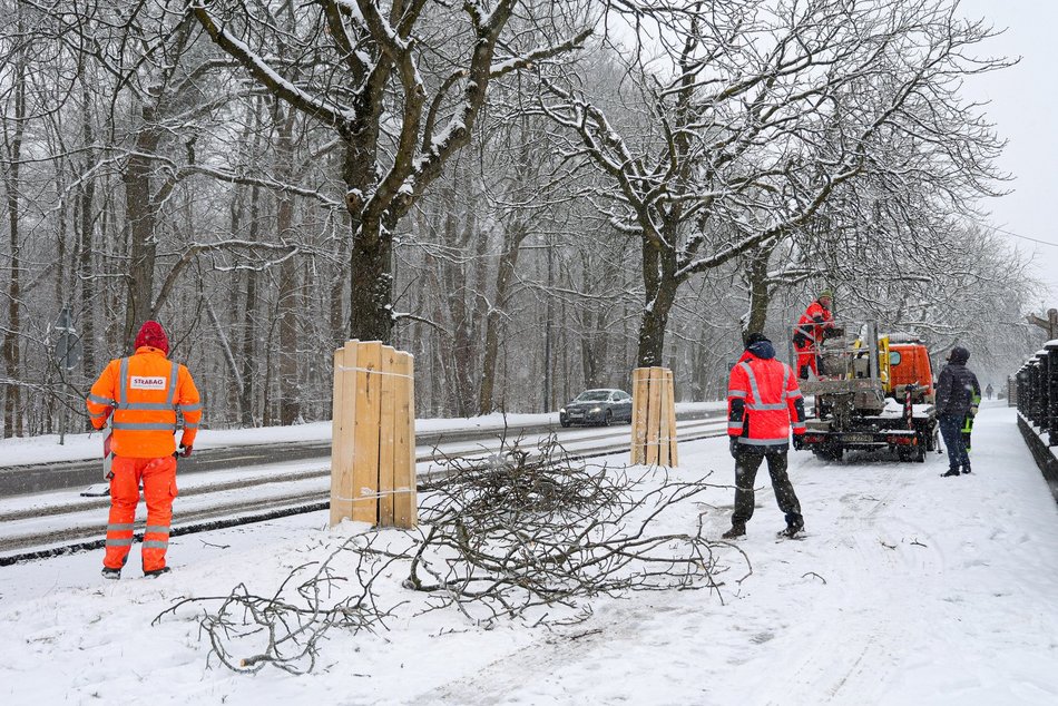
<svg viewBox="0 0 1058 706"><path fill-rule="evenodd" d="M331 526L353 517L353 421L356 418L356 341L334 352L331 422Z"/></svg>

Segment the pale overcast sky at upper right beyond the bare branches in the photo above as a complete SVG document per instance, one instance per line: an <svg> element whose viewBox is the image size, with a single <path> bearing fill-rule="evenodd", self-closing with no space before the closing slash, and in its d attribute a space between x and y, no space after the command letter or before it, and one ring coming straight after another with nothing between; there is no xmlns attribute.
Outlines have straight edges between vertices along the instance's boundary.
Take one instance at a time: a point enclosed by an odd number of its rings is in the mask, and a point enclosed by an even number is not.
<svg viewBox="0 0 1058 706"><path fill-rule="evenodd" d="M1008 185L1013 193L986 204L991 224L1021 236L1007 237L1036 255L1036 274L1049 287L1039 305L1058 307L1058 2L962 0L961 8L1007 28L988 43L988 53L1021 57L1018 66L972 79L966 90L991 100L987 114L1009 140L999 164L1015 177Z"/></svg>

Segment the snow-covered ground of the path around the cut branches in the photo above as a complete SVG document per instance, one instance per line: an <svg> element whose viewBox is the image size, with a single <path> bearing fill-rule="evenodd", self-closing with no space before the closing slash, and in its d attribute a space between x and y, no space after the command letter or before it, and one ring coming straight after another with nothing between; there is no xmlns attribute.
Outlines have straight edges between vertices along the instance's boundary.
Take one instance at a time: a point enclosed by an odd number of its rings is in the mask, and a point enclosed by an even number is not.
<svg viewBox="0 0 1058 706"><path fill-rule="evenodd" d="M748 537L719 549L723 600L599 599L587 622L559 630L484 630L457 612L415 616L412 601L389 631L331 635L300 677L208 667L193 610L151 620L241 581L271 592L363 527L330 531L316 513L174 538L175 570L158 580L133 560L104 582L100 552L0 568L0 703L1055 704L1058 506L1013 410L986 405L973 448L974 473L957 479L940 478L947 462L932 454L827 465L793 453L803 541L776 542L762 471ZM684 478L732 478L723 439L680 444L680 460ZM667 529L692 531L704 513L718 537L731 503L717 489ZM388 597L408 592L401 578Z"/></svg>

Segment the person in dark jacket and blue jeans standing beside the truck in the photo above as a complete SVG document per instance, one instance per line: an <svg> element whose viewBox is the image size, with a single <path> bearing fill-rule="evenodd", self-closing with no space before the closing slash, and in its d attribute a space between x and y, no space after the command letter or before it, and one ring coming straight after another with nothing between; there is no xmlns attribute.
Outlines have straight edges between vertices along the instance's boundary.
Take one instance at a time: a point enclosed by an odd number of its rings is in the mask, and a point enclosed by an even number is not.
<svg viewBox="0 0 1058 706"><path fill-rule="evenodd" d="M970 351L957 345L948 354L948 364L941 369L937 379L937 401L933 404L937 411L937 421L940 423L940 434L948 447L948 472L943 477L959 475L960 472L970 472L970 454L967 452L962 428L968 418L977 414L977 405L981 400L981 385L977 381L967 362Z"/></svg>

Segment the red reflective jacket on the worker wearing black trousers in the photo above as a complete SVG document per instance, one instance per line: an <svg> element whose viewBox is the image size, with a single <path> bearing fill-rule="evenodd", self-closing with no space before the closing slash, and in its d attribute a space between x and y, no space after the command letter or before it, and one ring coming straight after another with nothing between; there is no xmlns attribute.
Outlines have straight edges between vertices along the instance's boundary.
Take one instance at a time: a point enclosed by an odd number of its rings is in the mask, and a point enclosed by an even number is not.
<svg viewBox="0 0 1058 706"><path fill-rule="evenodd" d="M744 355L727 383L727 434L751 447L786 445L804 433L804 400L797 376L775 359Z"/></svg>

